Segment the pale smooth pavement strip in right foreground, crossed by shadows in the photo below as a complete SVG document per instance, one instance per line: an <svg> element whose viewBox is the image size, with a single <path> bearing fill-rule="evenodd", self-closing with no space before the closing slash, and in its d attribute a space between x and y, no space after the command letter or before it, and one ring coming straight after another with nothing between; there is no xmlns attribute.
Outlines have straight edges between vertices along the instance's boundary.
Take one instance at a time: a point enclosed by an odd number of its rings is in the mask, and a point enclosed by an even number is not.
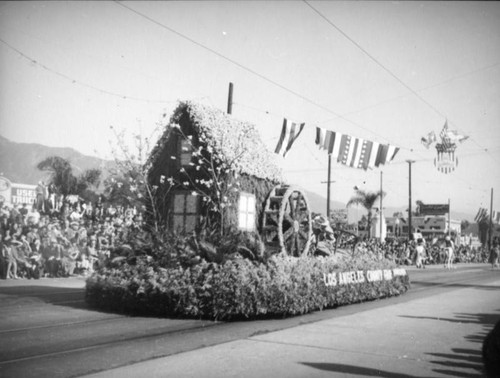
<svg viewBox="0 0 500 378"><path fill-rule="evenodd" d="M500 320L487 285L259 334L88 377L481 377Z"/></svg>

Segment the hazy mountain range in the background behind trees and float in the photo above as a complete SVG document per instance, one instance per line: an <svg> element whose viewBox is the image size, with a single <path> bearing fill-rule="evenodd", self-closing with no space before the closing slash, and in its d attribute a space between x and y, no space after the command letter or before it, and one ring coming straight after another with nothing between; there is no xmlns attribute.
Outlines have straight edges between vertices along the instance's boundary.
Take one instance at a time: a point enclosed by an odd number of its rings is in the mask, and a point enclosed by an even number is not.
<svg viewBox="0 0 500 378"><path fill-rule="evenodd" d="M69 147L49 147L37 143L17 143L0 135L0 176L20 184L36 185L40 180L47 180L47 173L40 171L36 166L49 156L60 156L68 160L76 174L90 168L99 168L105 178L114 166L114 162L98 157L84 155ZM326 198L314 192L305 190L309 207L315 213L326 213ZM345 209L346 204L339 201L330 201L330 209ZM386 216L396 212L405 214L407 206L385 208ZM359 217L364 214L360 209ZM453 219L467 219L472 221L473 216L465 213L453 212ZM352 216L349 216L350 221Z"/></svg>

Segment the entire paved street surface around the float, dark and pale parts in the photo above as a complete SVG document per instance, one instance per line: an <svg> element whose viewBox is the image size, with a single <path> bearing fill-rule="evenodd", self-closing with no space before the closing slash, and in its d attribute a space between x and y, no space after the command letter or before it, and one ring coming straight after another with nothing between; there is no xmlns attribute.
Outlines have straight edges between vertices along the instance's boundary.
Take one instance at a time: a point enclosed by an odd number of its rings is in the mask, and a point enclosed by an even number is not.
<svg viewBox="0 0 500 378"><path fill-rule="evenodd" d="M235 323L92 311L81 278L1 281L0 375L480 377L500 271L408 271L401 297Z"/></svg>

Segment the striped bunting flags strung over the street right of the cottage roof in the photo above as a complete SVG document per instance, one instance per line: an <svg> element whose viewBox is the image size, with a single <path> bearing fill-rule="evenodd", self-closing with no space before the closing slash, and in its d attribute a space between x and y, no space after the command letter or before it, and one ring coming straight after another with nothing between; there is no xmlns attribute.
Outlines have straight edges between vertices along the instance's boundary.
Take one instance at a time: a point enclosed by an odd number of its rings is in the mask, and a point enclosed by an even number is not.
<svg viewBox="0 0 500 378"><path fill-rule="evenodd" d="M274 152L286 157L304 126L304 123L288 122L285 118ZM319 149L332 155L338 163L364 170L391 162L399 151L399 147L355 138L321 127L316 127L315 143Z"/></svg>

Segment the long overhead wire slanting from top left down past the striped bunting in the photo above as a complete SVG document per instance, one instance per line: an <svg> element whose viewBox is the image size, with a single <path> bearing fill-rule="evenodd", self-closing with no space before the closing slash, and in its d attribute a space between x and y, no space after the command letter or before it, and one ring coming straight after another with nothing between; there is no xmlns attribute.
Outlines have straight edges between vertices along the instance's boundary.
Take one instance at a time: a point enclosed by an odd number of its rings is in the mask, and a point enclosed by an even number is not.
<svg viewBox="0 0 500 378"><path fill-rule="evenodd" d="M163 28L163 29L165 29L165 30L167 30L167 31L169 31L169 32L171 32L171 33L179 36L182 39L185 39L185 40L193 43L194 45L196 45L198 47L201 47L202 49L204 49L204 50L206 50L206 51L208 51L208 52L210 52L210 53L218 56L219 58L224 59L224 60L228 61L231 64L234 64L235 66L241 68L242 70L247 71L247 72L251 73L252 75L255 75L255 76L261 78L262 80L264 80L264 81L266 81L266 82L268 82L268 83L270 83L270 84L272 84L272 85L274 85L274 86L276 86L276 87L278 87L278 88L280 88L280 89L282 89L282 90L284 90L284 91L286 91L286 92L288 92L288 93L290 93L290 94L292 94L292 95L294 95L294 96L296 96L296 97L304 100L305 102L307 102L307 103L309 103L311 105L314 105L314 106L316 106L316 107L318 107L320 109L323 109L327 113L333 114L337 118L340 118L340 119L342 119L342 120L344 120L344 121L346 121L346 122L348 122L350 124L353 124L353 125L359 127L360 129L363 129L363 130L365 130L365 131L367 131L367 132L369 132L369 133L371 133L373 135L376 135L376 136L380 137L381 139L383 139L383 140L385 140L385 141L387 141L387 142L389 142L391 144L394 144L390 140L388 140L387 138L385 138L383 135L380 135L380 134L374 132L373 130L370 130L370 129L366 128L365 126L362 126L359 123L356 123L356 122L354 122L354 121L352 121L352 120L344 117L343 115L341 115L341 114L333 111L332 109L330 109L330 108L328 108L328 107L326 107L324 105L321 105L320 103L318 103L318 102L316 102L314 100L311 100L310 98L308 98L308 97L306 97L306 96L304 96L304 95L302 95L302 94L300 94L300 93L298 93L298 92L296 92L296 91L294 91L294 90L292 90L292 89L290 89L288 87L285 87L284 85L282 85L282 84L280 84L280 83L272 80L271 78L269 78L269 77L267 77L267 76L265 76L265 75L263 75L263 74L255 71L255 70L253 70L253 69L251 69L251 68L249 68L249 67L247 67L247 66L245 66L245 65L243 65L243 64L241 64L239 62L237 62L236 60L234 60L232 58L229 58L228 56L226 56L226 55L224 55L224 54L222 54L222 53L220 53L220 52L218 52L218 51L216 51L216 50L214 50L214 49L212 49L212 48L210 48L210 47L208 47L208 46L206 46L206 45L204 45L204 44L202 44L202 43L200 43L200 42L198 42L198 41L196 41L196 40L194 40L194 39L192 39L190 37L188 37L187 35L179 32L179 31L177 31L177 30L175 30L175 29L173 29L173 28L171 28L171 27L169 27L169 26L167 26L167 25L165 25L165 24L163 24L163 23L161 23L159 21L156 21L155 19L153 19L153 18L145 15L144 13L141 13L141 12L135 10L134 8L129 7L128 5L125 5L123 2L115 0L115 4L120 5L121 7L125 8L125 9L128 9L129 11L135 13L136 15L138 15L138 16L140 16L140 17L142 17L142 18L144 18L144 19L152 22L153 24L155 24L155 25L157 25L157 26L159 26L159 27L161 27L161 28ZM405 148L405 149L408 149L408 150L411 151L411 149L409 149L409 148Z"/></svg>

